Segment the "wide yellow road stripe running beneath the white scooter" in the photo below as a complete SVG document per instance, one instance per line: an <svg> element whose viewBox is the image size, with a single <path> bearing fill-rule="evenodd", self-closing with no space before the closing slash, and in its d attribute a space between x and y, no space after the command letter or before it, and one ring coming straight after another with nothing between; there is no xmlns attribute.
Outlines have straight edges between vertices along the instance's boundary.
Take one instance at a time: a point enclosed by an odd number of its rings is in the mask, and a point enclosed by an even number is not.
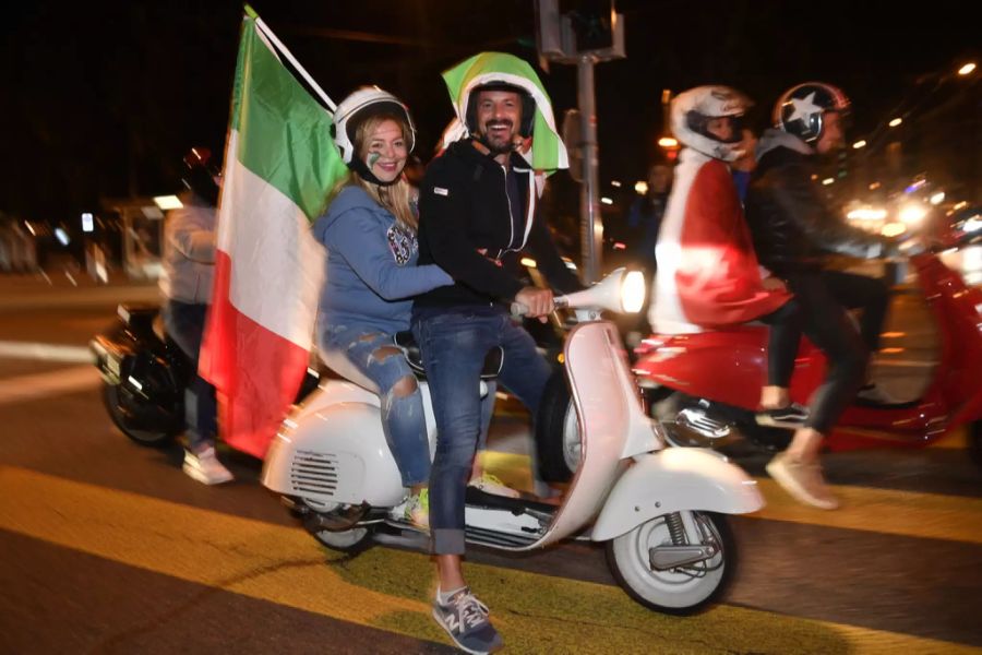
<svg viewBox="0 0 982 655"><path fill-rule="evenodd" d="M191 483L188 483L191 484ZM326 553L300 528L0 467L0 528L180 580L446 643L427 556ZM465 564L516 653L978 653L939 640L718 606L675 618L614 586Z"/></svg>

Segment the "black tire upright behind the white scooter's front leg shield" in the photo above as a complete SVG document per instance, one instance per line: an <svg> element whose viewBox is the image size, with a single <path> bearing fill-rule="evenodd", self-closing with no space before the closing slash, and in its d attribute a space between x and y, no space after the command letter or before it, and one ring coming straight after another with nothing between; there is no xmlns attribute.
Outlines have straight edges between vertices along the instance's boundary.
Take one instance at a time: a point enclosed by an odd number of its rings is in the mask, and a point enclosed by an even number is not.
<svg viewBox="0 0 982 655"><path fill-rule="evenodd" d="M579 422L563 369L549 378L536 417L539 476L547 483L567 483L579 466Z"/></svg>

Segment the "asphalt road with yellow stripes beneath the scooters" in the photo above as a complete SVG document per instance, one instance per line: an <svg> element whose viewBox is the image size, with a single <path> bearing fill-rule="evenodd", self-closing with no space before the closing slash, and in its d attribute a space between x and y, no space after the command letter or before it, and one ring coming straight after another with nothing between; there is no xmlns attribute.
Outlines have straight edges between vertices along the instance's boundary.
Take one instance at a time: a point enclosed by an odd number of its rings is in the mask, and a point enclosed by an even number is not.
<svg viewBox="0 0 982 655"><path fill-rule="evenodd" d="M259 485L258 461L223 452L237 481L207 488L179 448L117 431L81 348L118 299L155 291L55 282L0 278L0 653L453 652L424 555L324 550ZM899 350L877 373L915 394L936 335L914 296L898 302L885 347ZM516 486L525 432L499 413L487 460ZM633 603L588 544L475 549L467 574L512 653L982 652L982 473L962 438L830 455L837 512L790 501L765 455L741 458L768 505L732 522L738 579L697 617Z"/></svg>

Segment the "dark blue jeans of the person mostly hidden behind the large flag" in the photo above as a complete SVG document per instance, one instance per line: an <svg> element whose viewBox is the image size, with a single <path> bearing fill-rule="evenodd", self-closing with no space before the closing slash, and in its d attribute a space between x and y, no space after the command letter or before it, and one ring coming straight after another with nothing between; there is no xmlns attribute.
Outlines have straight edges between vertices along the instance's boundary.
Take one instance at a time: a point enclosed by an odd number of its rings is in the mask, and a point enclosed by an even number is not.
<svg viewBox="0 0 982 655"><path fill-rule="evenodd" d="M184 390L184 422L188 426L188 446L195 453L215 444L218 428L215 388L197 374L197 352L201 349L207 311L207 305L178 300L169 300L163 311L168 336L194 367L191 381Z"/></svg>

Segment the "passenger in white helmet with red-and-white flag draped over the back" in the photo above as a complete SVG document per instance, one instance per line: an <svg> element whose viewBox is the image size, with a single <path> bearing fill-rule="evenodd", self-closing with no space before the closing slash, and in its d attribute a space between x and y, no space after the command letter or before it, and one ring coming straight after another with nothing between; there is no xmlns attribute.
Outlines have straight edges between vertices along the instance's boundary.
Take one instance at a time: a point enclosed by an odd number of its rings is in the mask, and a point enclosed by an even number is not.
<svg viewBox="0 0 982 655"><path fill-rule="evenodd" d="M768 323L768 379L757 418L794 428L807 417L788 391L801 337L797 308L783 283L761 277L728 166L745 155L741 123L750 106L727 86L699 86L672 100L672 131L685 147L656 247L648 320L667 334Z"/></svg>

